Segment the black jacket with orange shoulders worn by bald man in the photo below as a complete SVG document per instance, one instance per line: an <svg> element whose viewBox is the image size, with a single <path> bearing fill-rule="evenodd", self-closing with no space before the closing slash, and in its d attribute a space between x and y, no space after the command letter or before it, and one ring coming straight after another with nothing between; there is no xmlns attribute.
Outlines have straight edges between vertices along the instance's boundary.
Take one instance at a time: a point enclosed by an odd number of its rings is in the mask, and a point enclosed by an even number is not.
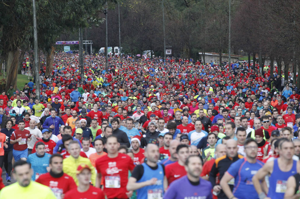
<svg viewBox="0 0 300 199"><path fill-rule="evenodd" d="M211 182L212 187L216 185L216 177L219 173L219 179L221 180L225 172L228 170L229 166L234 163L235 161L239 160L240 158L243 158L242 155L237 155L233 158L227 157L227 155L224 155L222 157L219 157L215 160L214 165L211 168L211 171L209 173L209 181ZM234 185L229 185L231 191L233 189ZM220 193L217 195L218 199L228 199L225 193L221 190Z"/></svg>

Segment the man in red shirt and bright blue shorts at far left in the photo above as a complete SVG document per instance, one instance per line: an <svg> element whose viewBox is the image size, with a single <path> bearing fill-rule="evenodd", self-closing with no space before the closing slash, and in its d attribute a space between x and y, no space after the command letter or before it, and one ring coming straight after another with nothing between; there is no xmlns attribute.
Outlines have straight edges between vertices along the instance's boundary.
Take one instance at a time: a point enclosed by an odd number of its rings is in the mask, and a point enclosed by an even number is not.
<svg viewBox="0 0 300 199"><path fill-rule="evenodd" d="M27 160L28 149L27 142L31 141L30 131L24 129L24 120L19 121L19 129L13 131L10 136L10 144L13 144L13 157L15 161Z"/></svg>

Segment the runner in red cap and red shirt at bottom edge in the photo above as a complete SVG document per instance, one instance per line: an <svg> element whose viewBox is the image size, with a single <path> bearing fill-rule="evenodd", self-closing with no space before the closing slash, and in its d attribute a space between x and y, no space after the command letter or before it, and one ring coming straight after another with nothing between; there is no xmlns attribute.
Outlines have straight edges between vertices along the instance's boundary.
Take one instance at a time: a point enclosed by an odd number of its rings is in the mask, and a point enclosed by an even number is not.
<svg viewBox="0 0 300 199"><path fill-rule="evenodd" d="M101 189L93 187L90 184L91 169L86 164L78 166L76 171L79 185L66 193L64 199L104 199L104 193Z"/></svg>

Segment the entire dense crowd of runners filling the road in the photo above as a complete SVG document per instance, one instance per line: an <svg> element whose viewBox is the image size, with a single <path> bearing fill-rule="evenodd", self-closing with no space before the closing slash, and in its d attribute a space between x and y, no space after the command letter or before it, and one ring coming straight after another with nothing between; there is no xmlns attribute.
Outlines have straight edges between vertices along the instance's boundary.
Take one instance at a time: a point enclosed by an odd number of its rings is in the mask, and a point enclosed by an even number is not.
<svg viewBox="0 0 300 199"><path fill-rule="evenodd" d="M106 71L95 54L82 79L78 54L44 64L40 100L32 79L0 95L1 199L300 198L300 90L276 65L123 56Z"/></svg>

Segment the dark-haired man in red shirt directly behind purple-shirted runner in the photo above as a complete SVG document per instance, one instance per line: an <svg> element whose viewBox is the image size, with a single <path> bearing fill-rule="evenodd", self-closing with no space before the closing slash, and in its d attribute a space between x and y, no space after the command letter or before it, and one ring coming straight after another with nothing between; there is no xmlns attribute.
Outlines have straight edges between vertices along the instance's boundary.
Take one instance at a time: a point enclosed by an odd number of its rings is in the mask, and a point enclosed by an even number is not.
<svg viewBox="0 0 300 199"><path fill-rule="evenodd" d="M172 164L168 164L165 168L166 177L168 179L168 184L177 180L187 174L184 169L184 163L187 157L189 156L189 149L187 145L180 144L176 148L176 155L178 157L178 161Z"/></svg>

